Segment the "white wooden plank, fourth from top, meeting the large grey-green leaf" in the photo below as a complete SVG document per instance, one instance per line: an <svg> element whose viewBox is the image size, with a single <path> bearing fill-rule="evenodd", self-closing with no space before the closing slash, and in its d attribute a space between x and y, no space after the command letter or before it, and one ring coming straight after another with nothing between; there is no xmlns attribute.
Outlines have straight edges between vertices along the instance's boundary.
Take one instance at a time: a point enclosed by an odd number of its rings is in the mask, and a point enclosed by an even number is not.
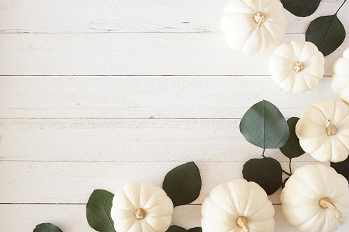
<svg viewBox="0 0 349 232"><path fill-rule="evenodd" d="M0 120L0 159L28 161L246 161L262 149L239 119L23 118ZM267 156L287 161L278 149ZM313 160L310 155L300 160Z"/></svg>

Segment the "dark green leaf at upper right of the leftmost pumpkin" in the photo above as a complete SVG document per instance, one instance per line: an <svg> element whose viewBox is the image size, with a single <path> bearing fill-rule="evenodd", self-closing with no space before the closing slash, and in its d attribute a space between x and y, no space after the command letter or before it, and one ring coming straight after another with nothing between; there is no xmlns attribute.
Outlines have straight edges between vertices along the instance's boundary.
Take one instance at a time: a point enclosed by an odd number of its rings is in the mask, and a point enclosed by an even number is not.
<svg viewBox="0 0 349 232"><path fill-rule="evenodd" d="M194 162L173 168L164 179L163 190L171 198L174 207L192 203L200 195L199 168Z"/></svg>

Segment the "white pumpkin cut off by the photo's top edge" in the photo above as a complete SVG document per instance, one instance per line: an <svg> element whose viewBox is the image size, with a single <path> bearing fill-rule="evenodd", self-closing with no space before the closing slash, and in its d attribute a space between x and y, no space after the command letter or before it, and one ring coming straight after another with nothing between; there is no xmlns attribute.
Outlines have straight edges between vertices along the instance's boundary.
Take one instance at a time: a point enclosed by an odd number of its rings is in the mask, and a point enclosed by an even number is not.
<svg viewBox="0 0 349 232"><path fill-rule="evenodd" d="M221 18L226 43L243 53L265 53L285 37L287 16L280 0L230 0Z"/></svg>

